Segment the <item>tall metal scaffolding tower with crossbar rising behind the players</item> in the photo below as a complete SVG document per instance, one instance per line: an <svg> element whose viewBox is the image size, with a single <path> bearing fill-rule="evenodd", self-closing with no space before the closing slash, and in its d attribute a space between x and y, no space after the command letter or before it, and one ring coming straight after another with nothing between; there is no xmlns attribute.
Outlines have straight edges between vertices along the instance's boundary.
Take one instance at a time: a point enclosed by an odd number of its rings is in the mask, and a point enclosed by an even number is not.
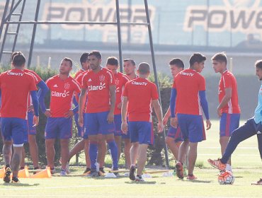
<svg viewBox="0 0 262 198"><path fill-rule="evenodd" d="M17 42L17 37L19 34L19 29L21 25L24 24L33 24L33 32L32 32L32 37L30 41L30 50L29 50L29 55L28 55L28 68L30 68L30 64L32 61L32 54L33 54L33 47L34 47L34 42L35 42L35 33L37 29L37 25L40 24L67 24L67 25L115 25L118 28L118 52L119 52L119 62L120 62L120 71L123 71L123 56L122 56L122 41L121 41L121 26L122 25L145 25L147 26L148 33L149 33L149 45L150 45L150 50L151 50L151 55L152 55L152 64L153 64L153 69L154 69L154 80L156 83L156 86L159 91L159 82L157 79L157 72L156 72L156 62L154 59L154 45L153 45L153 39L152 39L152 28L151 28L151 23L150 23L150 18L149 18L149 8L147 4L147 0L144 0L144 10L145 10L145 15L147 17L147 23L132 23L132 22L127 22L123 23L120 21L120 8L119 8L119 0L115 0L115 8L116 8L116 22L91 22L91 21L39 21L38 20L38 15L39 15L39 9L40 9L40 2L41 0L37 1L37 6L35 8L35 20L34 21L23 21L23 11L26 6L26 0L6 0L6 5L4 7L4 13L3 17L1 20L1 25L0 25L0 40L1 42L1 50L0 50L0 62L3 54L10 54L13 53L16 50L16 42ZM15 17L15 16L18 16ZM13 17L15 18L13 20ZM10 31L9 30L9 25L14 24L16 25L16 30L15 31ZM3 34L4 33L4 34ZM2 37L3 35L3 37ZM7 37L14 37L13 38L13 45L11 49L6 49L6 38ZM160 91L159 91L160 95ZM159 97L159 102L161 104L161 97ZM165 133L165 132L164 132ZM164 140L163 140L164 141ZM166 148L166 144L164 144L164 151L165 151L165 158L166 158L166 166L169 167L169 157L168 157L168 152Z"/></svg>

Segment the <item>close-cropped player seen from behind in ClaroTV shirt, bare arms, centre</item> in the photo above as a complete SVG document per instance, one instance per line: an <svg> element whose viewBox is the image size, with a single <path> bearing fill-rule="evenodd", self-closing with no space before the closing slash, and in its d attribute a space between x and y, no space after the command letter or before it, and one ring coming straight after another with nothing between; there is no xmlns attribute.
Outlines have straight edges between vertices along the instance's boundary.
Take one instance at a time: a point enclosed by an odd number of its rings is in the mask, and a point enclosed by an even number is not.
<svg viewBox="0 0 262 198"><path fill-rule="evenodd" d="M159 95L156 85L147 80L150 74L149 64L142 62L138 66L138 78L125 84L122 105L122 125L124 133L130 131L132 147L130 149L131 166L130 180L144 181L142 170L147 161L147 147L153 142L152 109L156 112L158 132L163 131L162 111L159 105ZM127 110L128 103L128 110ZM128 124L127 124L128 111ZM137 176L135 177L135 164L137 161Z"/></svg>

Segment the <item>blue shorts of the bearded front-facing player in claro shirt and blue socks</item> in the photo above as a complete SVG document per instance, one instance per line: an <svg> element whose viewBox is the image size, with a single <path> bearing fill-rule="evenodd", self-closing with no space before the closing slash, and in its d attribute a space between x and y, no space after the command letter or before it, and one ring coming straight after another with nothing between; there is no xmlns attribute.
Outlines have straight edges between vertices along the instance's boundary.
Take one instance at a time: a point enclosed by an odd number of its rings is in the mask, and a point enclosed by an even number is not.
<svg viewBox="0 0 262 198"><path fill-rule="evenodd" d="M108 123L107 112L84 113L84 139L90 135L97 134L113 134L115 132L115 124Z"/></svg>

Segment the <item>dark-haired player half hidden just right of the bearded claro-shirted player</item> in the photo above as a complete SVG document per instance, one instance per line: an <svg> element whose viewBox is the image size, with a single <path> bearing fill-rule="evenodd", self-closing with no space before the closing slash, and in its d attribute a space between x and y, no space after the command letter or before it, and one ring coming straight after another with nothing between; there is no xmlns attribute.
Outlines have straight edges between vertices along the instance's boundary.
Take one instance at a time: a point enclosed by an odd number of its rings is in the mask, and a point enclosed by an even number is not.
<svg viewBox="0 0 262 198"><path fill-rule="evenodd" d="M130 79L121 72L118 71L118 59L116 57L108 57L106 61L106 68L113 72L115 78L115 111L114 111L114 123L115 123L115 143L118 146L118 161L121 154L121 137L123 132L121 131L121 107L123 98L123 89L125 88L125 83ZM130 165L130 164L129 164Z"/></svg>

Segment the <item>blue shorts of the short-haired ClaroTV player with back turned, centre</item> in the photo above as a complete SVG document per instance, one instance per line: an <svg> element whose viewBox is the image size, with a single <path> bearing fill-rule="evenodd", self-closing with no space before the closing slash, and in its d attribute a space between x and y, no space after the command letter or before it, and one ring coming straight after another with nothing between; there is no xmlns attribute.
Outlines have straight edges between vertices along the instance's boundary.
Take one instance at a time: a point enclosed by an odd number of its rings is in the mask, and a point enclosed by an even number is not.
<svg viewBox="0 0 262 198"><path fill-rule="evenodd" d="M154 133L152 122L128 122L131 142L139 144L153 144Z"/></svg>

